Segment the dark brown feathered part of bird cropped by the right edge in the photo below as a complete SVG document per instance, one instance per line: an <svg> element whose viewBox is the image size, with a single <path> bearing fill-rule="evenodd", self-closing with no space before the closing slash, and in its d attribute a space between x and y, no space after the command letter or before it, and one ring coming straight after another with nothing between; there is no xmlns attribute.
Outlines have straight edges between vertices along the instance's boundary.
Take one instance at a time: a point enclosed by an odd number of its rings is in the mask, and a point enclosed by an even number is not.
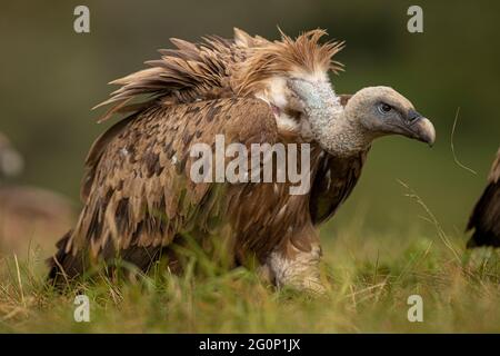
<svg viewBox="0 0 500 356"><path fill-rule="evenodd" d="M467 230L474 229L467 247L500 247L500 149L488 177L488 186L476 204Z"/></svg>

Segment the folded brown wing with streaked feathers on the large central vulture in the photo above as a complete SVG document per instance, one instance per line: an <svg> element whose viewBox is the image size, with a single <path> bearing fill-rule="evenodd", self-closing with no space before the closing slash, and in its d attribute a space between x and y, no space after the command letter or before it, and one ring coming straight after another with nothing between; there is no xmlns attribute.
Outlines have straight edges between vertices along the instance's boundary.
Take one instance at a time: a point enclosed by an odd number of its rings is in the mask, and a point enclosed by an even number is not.
<svg viewBox="0 0 500 356"><path fill-rule="evenodd" d="M213 217L227 214L218 199L224 185L190 179L198 160L190 148L203 142L213 149L218 134L226 145L272 145L274 116L259 99L230 98L156 106L110 128L88 156L84 207L76 229L59 243L50 276L61 269L81 274L89 257L110 259L117 251L141 267L144 255L177 234L209 230Z"/></svg>

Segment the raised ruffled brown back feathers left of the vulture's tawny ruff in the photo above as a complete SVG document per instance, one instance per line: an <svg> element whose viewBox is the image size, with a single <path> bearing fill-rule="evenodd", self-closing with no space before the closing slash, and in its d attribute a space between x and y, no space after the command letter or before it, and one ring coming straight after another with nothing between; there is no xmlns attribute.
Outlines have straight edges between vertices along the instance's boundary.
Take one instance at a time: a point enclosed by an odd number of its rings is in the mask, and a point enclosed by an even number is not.
<svg viewBox="0 0 500 356"><path fill-rule="evenodd" d="M158 98L164 102L179 103L233 95L227 80L231 71L230 63L242 58L237 58L231 41L210 37L202 44L180 39L171 39L171 42L177 49L159 50L161 59L146 62L153 68L111 81L121 88L96 107L112 105L101 120L117 112L152 105ZM129 105L143 96L146 99L139 105Z"/></svg>

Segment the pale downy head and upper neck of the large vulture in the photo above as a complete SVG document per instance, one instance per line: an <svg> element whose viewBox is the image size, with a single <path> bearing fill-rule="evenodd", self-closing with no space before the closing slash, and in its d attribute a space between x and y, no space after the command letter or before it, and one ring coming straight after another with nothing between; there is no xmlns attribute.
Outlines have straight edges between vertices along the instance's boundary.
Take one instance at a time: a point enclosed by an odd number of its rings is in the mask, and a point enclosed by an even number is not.
<svg viewBox="0 0 500 356"><path fill-rule="evenodd" d="M342 101L342 112L317 128L322 137L318 142L334 156L359 152L388 135L402 135L430 146L436 140L432 122L392 88L363 88Z"/></svg>

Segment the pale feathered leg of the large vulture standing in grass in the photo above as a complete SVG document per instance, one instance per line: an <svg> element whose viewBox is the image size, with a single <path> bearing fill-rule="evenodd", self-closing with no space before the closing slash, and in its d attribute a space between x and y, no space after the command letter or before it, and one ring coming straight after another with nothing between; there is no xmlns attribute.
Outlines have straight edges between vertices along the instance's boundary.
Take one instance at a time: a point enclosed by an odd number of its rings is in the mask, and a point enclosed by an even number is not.
<svg viewBox="0 0 500 356"><path fill-rule="evenodd" d="M324 294L320 279L320 259L319 236L310 226L286 238L269 256L261 271L264 276L272 277L278 287Z"/></svg>

